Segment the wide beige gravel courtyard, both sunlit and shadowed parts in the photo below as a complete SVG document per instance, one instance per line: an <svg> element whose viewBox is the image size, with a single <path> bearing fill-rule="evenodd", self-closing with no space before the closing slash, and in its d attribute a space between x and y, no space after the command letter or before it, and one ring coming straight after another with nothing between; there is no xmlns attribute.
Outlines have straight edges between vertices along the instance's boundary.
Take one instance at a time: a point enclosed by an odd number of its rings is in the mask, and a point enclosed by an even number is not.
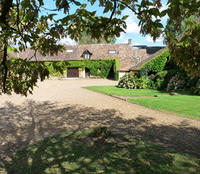
<svg viewBox="0 0 200 174"><path fill-rule="evenodd" d="M116 84L106 79L46 80L28 97L0 96L0 159L44 137L94 125L200 157L200 120L81 88Z"/></svg>

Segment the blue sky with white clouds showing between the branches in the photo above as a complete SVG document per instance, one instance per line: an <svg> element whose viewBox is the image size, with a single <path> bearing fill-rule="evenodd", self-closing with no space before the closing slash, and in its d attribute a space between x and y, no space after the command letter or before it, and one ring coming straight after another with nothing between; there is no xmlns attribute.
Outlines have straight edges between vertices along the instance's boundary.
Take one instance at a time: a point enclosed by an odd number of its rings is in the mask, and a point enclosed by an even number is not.
<svg viewBox="0 0 200 174"><path fill-rule="evenodd" d="M45 6L47 8L55 8L55 6L54 6L55 1L49 1L49 0L44 0L44 1L45 1ZM162 0L162 3L164 4L162 9L165 9L167 7L166 1L167 0ZM87 0L82 0L81 2L87 3ZM105 16L105 14L103 14L103 8L99 7L97 3L94 6L88 5L87 9L90 11L97 11L96 15L104 15ZM71 6L70 13L75 12L75 10L76 10L76 7ZM126 29L126 33L121 33L121 36L119 38L117 38L116 43L127 43L128 39L132 39L133 45L163 46L163 38L162 37L157 39L156 42L154 42L150 36L144 37L139 33L139 31L140 31L140 28L138 26L139 21L138 21L137 17L134 15L134 13L131 12L131 10L125 9L123 11L123 15L129 15L129 17L126 20L127 29ZM63 13L58 13L58 18L60 18L60 17L64 17ZM167 17L164 17L162 19L162 23L165 25L166 22L167 22ZM76 44L76 42L71 40L69 37L62 39L61 43Z"/></svg>

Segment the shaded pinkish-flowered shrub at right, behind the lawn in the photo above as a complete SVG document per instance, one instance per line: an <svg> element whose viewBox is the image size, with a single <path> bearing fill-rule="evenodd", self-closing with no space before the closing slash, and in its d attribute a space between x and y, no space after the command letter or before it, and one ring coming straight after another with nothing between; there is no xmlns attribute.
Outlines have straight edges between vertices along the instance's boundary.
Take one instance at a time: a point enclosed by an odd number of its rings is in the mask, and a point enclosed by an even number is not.
<svg viewBox="0 0 200 174"><path fill-rule="evenodd" d="M177 73L170 79L167 85L167 91L184 91L185 84L185 81L180 79L180 73Z"/></svg>

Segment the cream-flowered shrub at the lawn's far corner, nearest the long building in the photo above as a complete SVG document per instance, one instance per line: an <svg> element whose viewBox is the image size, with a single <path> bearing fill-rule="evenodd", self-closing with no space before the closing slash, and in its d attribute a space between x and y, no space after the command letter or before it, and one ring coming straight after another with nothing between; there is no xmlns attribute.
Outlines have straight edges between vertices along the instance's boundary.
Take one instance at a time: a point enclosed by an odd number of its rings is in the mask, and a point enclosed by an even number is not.
<svg viewBox="0 0 200 174"><path fill-rule="evenodd" d="M127 89L145 89L148 88L150 83L149 79L142 76L138 78L134 73L125 74L119 81L119 88Z"/></svg>

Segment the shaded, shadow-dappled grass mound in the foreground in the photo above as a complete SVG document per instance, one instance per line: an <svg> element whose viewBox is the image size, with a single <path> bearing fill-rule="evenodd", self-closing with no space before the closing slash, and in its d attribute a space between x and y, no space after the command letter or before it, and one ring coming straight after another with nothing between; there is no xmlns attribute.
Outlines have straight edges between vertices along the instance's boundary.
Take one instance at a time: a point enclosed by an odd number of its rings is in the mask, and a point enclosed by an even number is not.
<svg viewBox="0 0 200 174"><path fill-rule="evenodd" d="M200 173L198 158L134 136L110 133L105 139L95 138L90 131L61 133L20 150L0 161L0 173Z"/></svg>

